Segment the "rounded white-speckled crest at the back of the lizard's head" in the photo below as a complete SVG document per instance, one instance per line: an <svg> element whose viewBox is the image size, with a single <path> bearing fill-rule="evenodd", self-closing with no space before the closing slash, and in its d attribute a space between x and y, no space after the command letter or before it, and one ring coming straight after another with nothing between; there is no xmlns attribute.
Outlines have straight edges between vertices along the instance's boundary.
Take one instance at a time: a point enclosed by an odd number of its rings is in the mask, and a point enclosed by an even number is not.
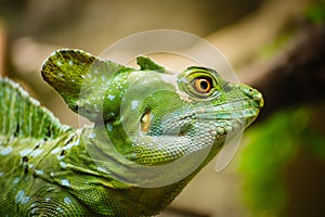
<svg viewBox="0 0 325 217"><path fill-rule="evenodd" d="M58 50L43 63L41 75L74 112L95 122L105 112L105 87L121 68L80 50Z"/></svg>

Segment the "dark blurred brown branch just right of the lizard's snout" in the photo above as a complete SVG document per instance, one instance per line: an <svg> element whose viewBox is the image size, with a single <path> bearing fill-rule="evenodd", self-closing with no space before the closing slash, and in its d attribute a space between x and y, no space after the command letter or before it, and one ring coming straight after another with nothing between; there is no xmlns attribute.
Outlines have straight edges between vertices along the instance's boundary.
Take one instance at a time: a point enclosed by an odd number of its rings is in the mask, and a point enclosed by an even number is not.
<svg viewBox="0 0 325 217"><path fill-rule="evenodd" d="M240 75L265 100L261 118L287 106L325 101L325 25L306 27L292 49L269 67Z"/></svg>

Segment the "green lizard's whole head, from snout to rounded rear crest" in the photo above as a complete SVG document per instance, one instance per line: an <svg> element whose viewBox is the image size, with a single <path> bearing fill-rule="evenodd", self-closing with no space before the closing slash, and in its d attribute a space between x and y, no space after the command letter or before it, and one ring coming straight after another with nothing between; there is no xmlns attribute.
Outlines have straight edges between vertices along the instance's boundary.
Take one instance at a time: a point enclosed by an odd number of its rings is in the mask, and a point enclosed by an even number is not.
<svg viewBox="0 0 325 217"><path fill-rule="evenodd" d="M113 145L123 161L138 165L166 165L187 156L205 165L263 106L260 92L231 84L214 69L195 66L173 73L145 56L136 61L140 69L60 50L41 71L73 111L95 123L94 129L104 129L109 141L99 148L110 158ZM197 153L204 154L191 158ZM187 163L183 165L195 169Z"/></svg>

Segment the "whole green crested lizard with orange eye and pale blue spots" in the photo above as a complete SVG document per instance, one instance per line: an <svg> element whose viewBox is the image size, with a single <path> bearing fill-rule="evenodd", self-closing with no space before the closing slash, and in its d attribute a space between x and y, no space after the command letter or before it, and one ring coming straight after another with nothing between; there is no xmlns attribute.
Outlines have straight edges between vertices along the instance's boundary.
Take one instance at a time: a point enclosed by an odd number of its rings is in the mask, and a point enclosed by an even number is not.
<svg viewBox="0 0 325 217"><path fill-rule="evenodd" d="M80 129L0 79L0 216L156 215L263 106L213 69L136 60L58 50L44 62L43 79L93 123Z"/></svg>

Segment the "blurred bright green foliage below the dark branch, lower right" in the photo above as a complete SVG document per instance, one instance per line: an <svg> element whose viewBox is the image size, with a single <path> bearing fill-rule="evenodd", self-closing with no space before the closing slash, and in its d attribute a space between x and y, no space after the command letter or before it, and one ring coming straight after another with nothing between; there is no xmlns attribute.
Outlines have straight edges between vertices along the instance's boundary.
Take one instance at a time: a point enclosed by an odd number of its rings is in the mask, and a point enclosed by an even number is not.
<svg viewBox="0 0 325 217"><path fill-rule="evenodd" d="M282 216L288 200L284 168L302 145L325 159L325 139L311 128L311 108L284 111L248 131L239 171L252 216Z"/></svg>

